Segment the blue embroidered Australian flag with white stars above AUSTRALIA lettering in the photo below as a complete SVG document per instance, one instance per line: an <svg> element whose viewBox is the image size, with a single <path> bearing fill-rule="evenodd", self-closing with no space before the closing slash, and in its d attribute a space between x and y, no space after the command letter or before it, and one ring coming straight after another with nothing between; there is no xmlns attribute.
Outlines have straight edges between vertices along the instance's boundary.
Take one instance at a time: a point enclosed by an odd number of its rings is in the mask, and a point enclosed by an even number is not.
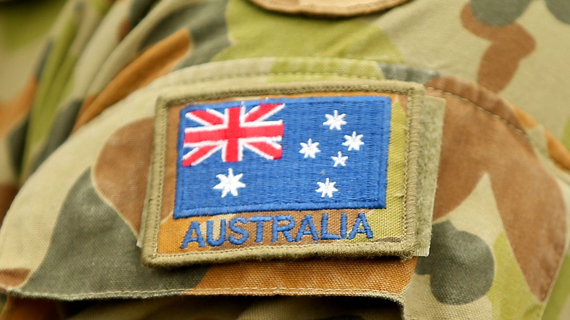
<svg viewBox="0 0 570 320"><path fill-rule="evenodd" d="M386 207L389 97L191 104L178 132L175 219Z"/></svg>

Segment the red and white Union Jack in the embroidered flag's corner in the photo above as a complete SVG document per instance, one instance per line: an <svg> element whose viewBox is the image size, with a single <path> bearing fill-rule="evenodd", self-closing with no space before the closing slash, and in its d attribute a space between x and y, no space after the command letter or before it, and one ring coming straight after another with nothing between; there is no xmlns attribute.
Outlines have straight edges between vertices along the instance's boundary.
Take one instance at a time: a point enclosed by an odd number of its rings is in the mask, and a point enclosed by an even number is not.
<svg viewBox="0 0 570 320"><path fill-rule="evenodd" d="M243 148L273 160L282 155L283 120L263 121L285 104L259 104L246 113L245 106L217 110L194 110L186 117L203 126L185 128L184 147L193 147L182 157L183 166L195 166L218 150L223 162L242 161Z"/></svg>

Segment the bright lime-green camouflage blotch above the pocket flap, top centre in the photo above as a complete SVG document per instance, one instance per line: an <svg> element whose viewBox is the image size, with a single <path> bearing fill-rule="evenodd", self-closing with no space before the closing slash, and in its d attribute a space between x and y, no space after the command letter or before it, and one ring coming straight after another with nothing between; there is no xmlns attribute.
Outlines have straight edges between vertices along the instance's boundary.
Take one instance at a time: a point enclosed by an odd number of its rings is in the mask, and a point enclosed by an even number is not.
<svg viewBox="0 0 570 320"><path fill-rule="evenodd" d="M260 9L250 1L227 5L232 45L214 60L317 56L401 63L396 46L378 27L358 18L311 19Z"/></svg>

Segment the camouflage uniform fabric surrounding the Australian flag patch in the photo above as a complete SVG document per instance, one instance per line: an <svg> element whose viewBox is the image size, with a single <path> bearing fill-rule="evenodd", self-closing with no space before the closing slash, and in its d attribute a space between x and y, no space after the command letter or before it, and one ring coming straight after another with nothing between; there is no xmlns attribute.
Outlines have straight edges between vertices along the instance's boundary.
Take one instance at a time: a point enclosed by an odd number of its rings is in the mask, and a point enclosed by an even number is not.
<svg viewBox="0 0 570 320"><path fill-rule="evenodd" d="M567 1L12 3L0 32L0 318L570 318ZM429 256L141 264L158 95L363 79L445 99Z"/></svg>

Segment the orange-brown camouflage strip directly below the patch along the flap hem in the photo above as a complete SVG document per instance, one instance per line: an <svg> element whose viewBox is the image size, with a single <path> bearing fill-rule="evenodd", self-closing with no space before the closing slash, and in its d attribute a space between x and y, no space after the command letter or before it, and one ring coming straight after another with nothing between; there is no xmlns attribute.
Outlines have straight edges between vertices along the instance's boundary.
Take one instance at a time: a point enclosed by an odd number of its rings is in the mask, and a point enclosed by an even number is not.
<svg viewBox="0 0 570 320"><path fill-rule="evenodd" d="M399 294L410 282L413 270L416 268L416 260L416 258L299 260L218 264L210 266L200 284L186 294L200 294L205 292L204 289L210 294L321 292L327 295L354 295L365 290ZM249 290L250 288L253 289ZM254 290L255 288L271 288L271 290ZM211 291L211 289L216 290ZM323 291L326 289L331 290Z"/></svg>

